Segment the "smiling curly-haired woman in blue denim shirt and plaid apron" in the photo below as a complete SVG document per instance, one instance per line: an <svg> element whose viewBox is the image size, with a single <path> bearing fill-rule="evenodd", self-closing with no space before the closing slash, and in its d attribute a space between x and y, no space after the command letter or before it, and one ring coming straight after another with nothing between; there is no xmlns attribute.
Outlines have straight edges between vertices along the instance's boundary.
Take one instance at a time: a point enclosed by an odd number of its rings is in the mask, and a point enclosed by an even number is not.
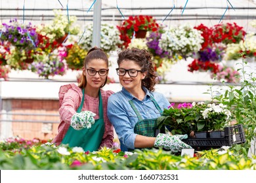
<svg viewBox="0 0 256 183"><path fill-rule="evenodd" d="M156 73L152 55L145 49L131 48L118 54L116 69L121 91L108 98L108 118L114 125L121 150L163 147L171 152L191 148L181 141L186 135L159 133L156 118L170 103L163 94L154 92Z"/></svg>

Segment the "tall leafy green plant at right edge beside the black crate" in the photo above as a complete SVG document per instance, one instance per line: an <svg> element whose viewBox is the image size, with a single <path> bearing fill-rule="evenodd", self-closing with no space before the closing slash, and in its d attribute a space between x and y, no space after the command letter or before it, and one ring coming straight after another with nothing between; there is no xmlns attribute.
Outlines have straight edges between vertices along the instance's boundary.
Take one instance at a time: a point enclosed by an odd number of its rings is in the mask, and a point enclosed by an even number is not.
<svg viewBox="0 0 256 183"><path fill-rule="evenodd" d="M241 58L243 56L244 54L240 54ZM242 72L241 85L223 86L216 95L213 95L213 91L210 91L210 94L213 100L226 105L236 122L243 125L247 142L242 146L246 149L244 152L246 154L250 146L249 142L256 136L256 78L255 73L246 73L245 67L248 66L244 58L238 65L240 65L238 71Z"/></svg>

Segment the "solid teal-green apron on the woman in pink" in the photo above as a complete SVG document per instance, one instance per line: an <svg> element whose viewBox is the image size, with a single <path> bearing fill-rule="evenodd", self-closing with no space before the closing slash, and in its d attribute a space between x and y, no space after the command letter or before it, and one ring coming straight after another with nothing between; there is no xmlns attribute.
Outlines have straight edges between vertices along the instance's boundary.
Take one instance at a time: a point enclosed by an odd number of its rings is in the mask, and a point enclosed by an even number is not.
<svg viewBox="0 0 256 183"><path fill-rule="evenodd" d="M95 124L91 128L83 128L81 130L75 130L72 126L68 128L65 137L62 140L62 144L68 144L70 147L81 147L84 151L93 152L98 150L102 137L104 135L104 117L103 117L103 107L102 98L100 91L98 92L98 114L99 119L95 120ZM85 90L83 89L83 98L81 105L77 109L77 112L81 112L83 108L83 101L85 99Z"/></svg>

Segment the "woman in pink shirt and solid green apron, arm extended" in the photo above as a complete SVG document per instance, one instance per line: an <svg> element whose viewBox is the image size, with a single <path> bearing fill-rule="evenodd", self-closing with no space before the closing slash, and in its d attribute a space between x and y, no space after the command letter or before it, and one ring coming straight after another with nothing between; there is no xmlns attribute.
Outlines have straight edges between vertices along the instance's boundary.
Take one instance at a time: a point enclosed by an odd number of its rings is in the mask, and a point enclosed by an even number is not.
<svg viewBox="0 0 256 183"><path fill-rule="evenodd" d="M80 146L91 152L103 146L112 148L114 129L107 117L107 104L114 92L102 90L107 79L108 56L102 49L92 48L78 86L60 87L60 125L53 143Z"/></svg>

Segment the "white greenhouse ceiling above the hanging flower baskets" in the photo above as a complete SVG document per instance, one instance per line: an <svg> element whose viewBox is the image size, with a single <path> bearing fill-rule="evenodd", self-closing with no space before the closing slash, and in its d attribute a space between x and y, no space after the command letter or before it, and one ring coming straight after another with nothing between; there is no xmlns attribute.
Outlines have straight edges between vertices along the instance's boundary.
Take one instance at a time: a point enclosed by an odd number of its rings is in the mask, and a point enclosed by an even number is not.
<svg viewBox="0 0 256 183"><path fill-rule="evenodd" d="M98 0L98 2L100 2ZM256 20L256 0L101 0L101 21L120 24L129 16L151 15L166 25L236 22L247 31ZM96 0L1 0L1 23L12 18L44 24L54 17L53 9L62 9L67 16L77 16L78 22L93 20ZM83 24L81 24L83 25Z"/></svg>

